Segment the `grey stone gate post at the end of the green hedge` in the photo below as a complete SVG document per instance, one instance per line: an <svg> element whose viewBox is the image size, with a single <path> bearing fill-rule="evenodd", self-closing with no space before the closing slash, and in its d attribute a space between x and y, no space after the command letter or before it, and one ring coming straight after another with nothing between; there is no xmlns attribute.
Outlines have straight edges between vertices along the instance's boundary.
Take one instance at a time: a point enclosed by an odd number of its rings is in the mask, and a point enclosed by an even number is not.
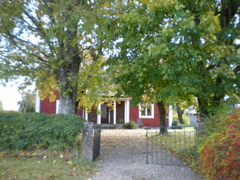
<svg viewBox="0 0 240 180"><path fill-rule="evenodd" d="M93 122L83 124L82 155L85 159L93 161Z"/></svg>

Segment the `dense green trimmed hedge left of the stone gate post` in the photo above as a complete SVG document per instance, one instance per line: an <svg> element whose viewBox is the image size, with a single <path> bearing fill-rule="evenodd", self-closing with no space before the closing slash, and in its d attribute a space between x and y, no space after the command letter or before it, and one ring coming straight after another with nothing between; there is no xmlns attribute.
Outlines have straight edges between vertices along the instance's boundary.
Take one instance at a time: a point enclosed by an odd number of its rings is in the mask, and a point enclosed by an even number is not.
<svg viewBox="0 0 240 180"><path fill-rule="evenodd" d="M76 115L2 113L0 149L68 150L82 131L83 122Z"/></svg>

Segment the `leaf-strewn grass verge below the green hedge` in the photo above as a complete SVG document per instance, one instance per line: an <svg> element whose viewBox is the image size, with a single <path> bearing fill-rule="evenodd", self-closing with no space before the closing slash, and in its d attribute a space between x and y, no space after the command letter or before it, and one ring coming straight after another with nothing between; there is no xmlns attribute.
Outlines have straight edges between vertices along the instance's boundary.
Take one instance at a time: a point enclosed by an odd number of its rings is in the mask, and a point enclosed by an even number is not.
<svg viewBox="0 0 240 180"><path fill-rule="evenodd" d="M33 151L0 152L1 180L85 180L97 165L79 154L81 136L68 152L35 149Z"/></svg>

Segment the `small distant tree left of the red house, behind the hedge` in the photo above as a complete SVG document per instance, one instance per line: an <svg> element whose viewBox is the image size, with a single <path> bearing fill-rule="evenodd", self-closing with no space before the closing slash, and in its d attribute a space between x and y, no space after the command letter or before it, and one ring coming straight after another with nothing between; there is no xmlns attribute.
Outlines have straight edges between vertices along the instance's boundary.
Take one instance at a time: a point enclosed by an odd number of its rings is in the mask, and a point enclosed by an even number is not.
<svg viewBox="0 0 240 180"><path fill-rule="evenodd" d="M18 101L19 111L22 113L35 112L36 93L34 91L22 91L22 100Z"/></svg>

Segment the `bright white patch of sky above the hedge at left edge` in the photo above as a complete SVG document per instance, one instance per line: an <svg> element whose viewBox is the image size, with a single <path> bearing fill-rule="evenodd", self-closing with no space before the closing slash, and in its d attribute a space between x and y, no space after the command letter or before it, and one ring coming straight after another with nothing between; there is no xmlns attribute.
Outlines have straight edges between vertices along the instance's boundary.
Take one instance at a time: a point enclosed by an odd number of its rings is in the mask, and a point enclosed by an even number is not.
<svg viewBox="0 0 240 180"><path fill-rule="evenodd" d="M0 100L4 110L18 110L19 105L17 105L17 102L22 100L21 94L18 91L19 85L19 81L12 81L7 83L6 86L0 84Z"/></svg>

